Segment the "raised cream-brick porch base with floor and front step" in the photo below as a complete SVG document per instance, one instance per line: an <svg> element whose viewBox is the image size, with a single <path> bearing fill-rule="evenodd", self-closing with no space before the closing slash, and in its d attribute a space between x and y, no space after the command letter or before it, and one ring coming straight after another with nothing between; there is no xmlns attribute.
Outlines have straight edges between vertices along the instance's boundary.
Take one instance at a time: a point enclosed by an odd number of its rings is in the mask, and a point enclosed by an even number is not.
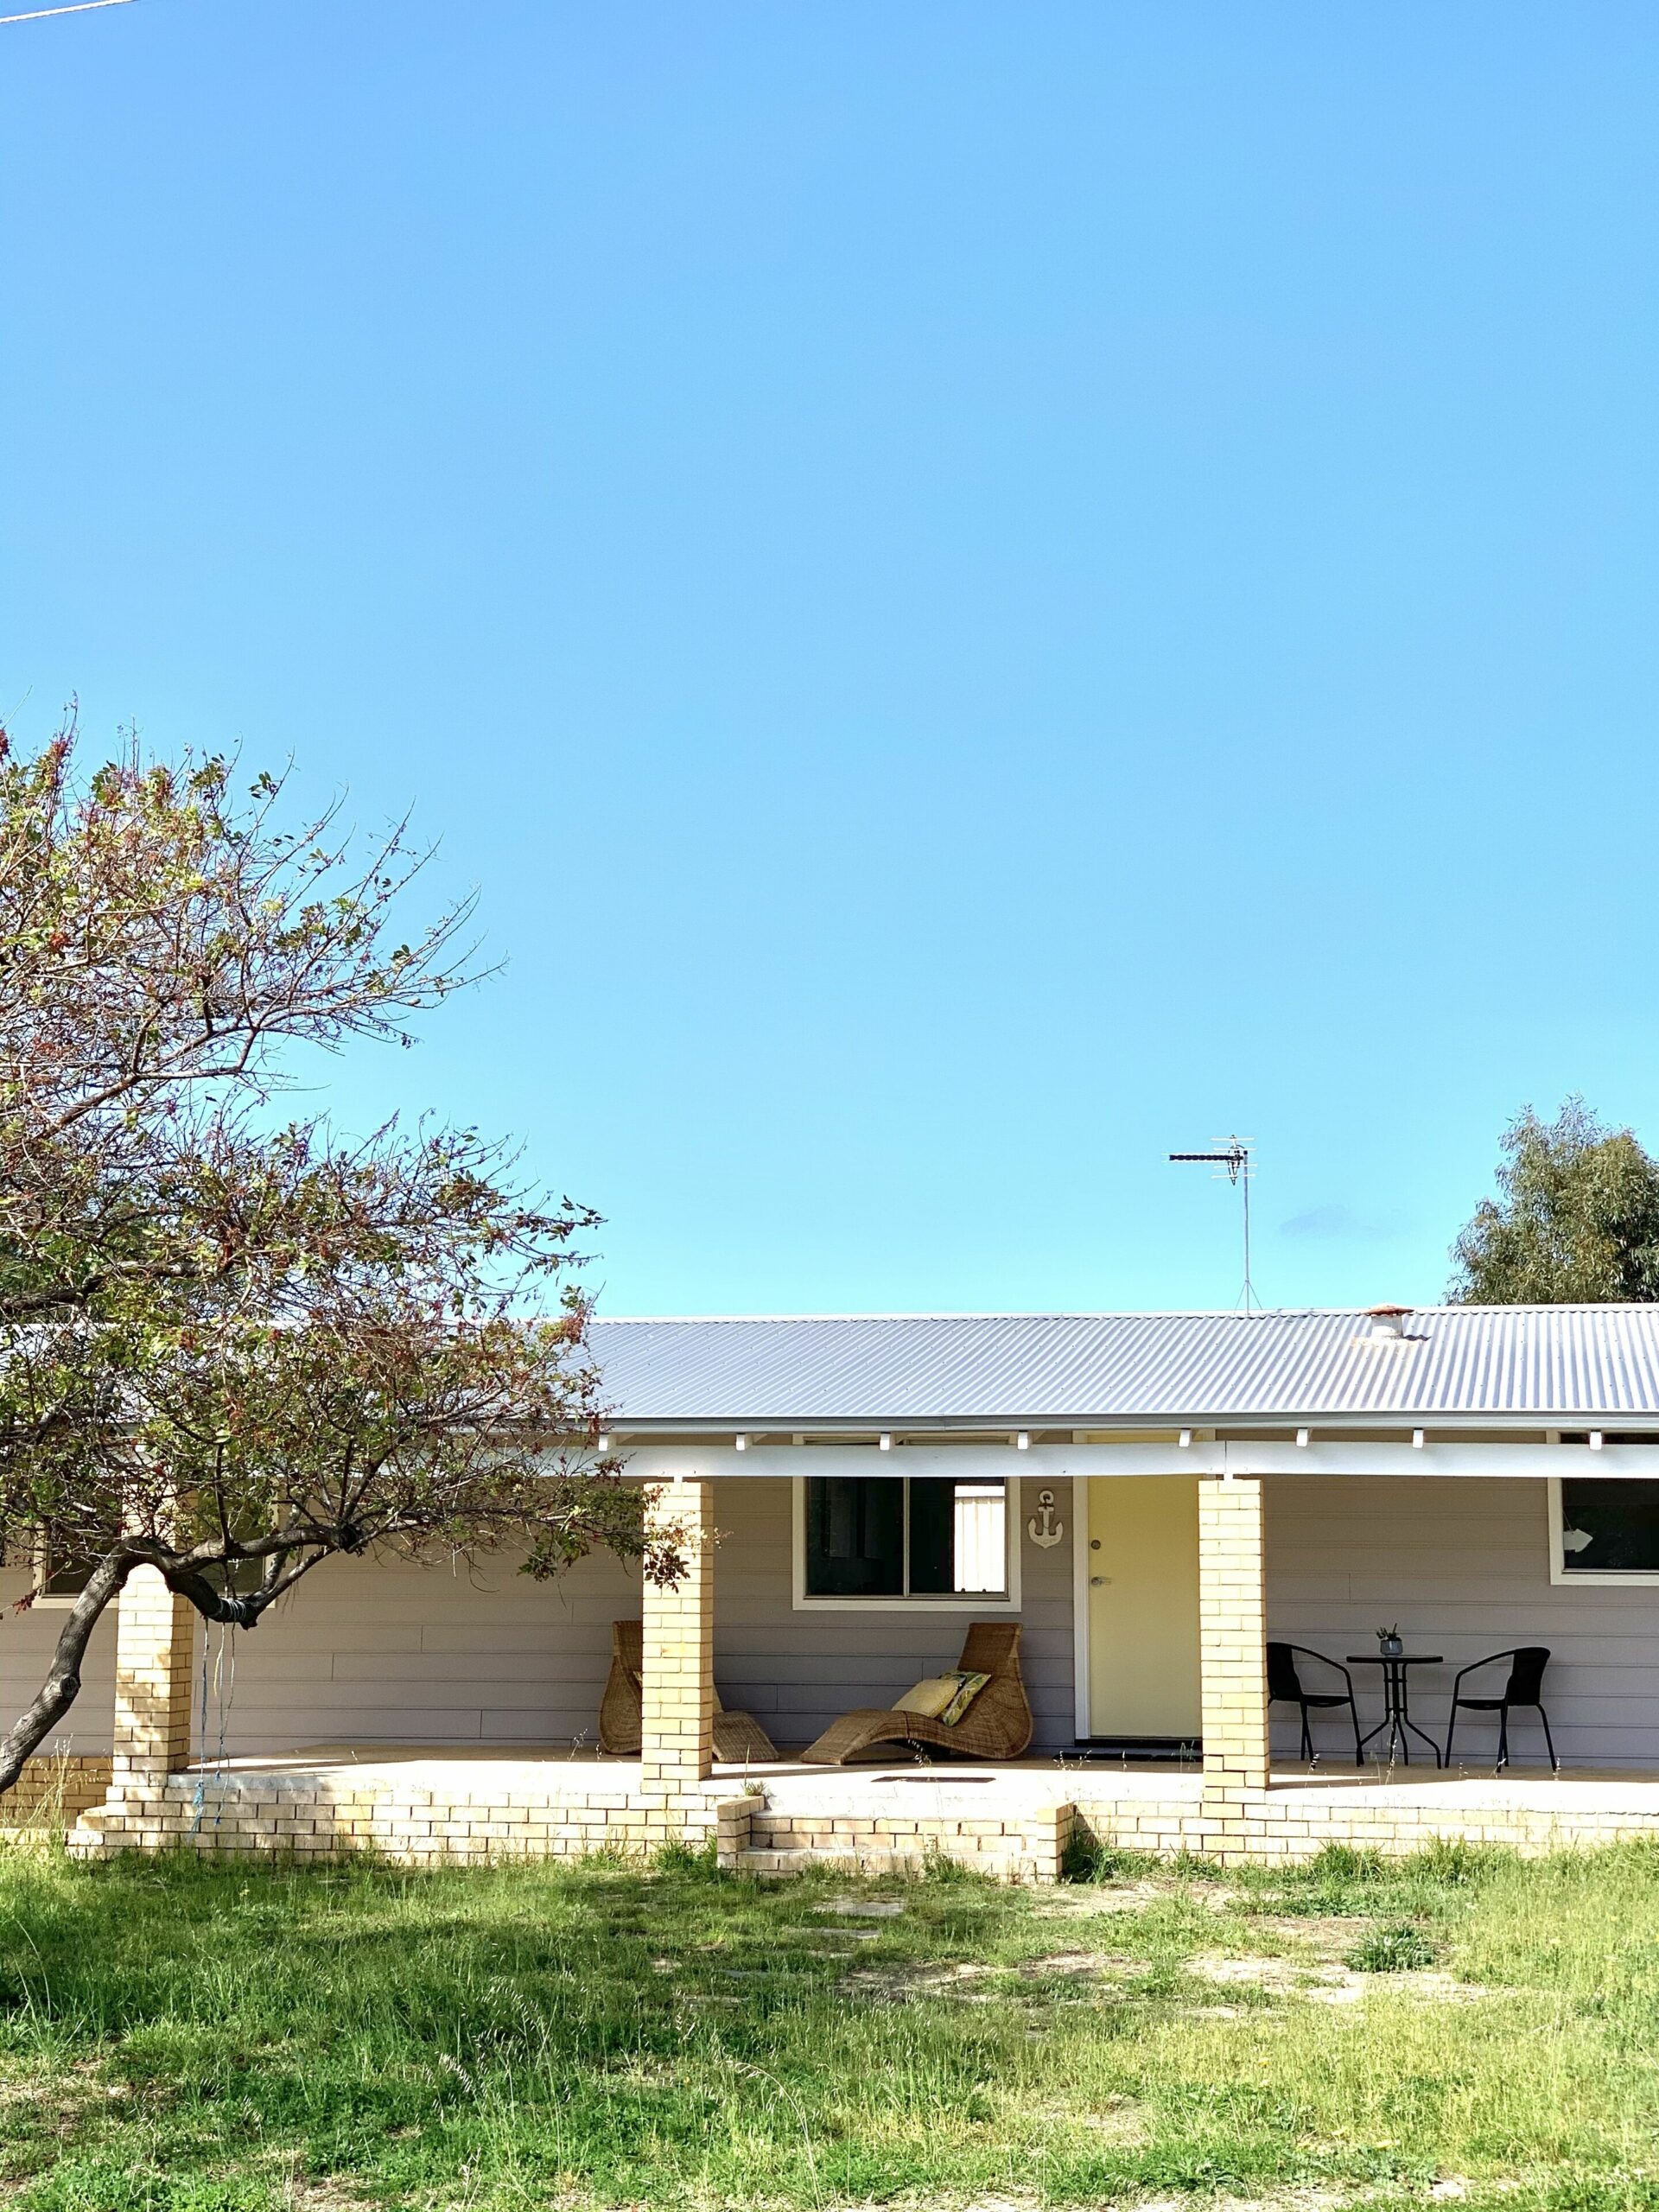
<svg viewBox="0 0 1659 2212"><path fill-rule="evenodd" d="M717 1767L666 1801L637 1759L568 1747L319 1743L204 1761L115 1787L69 1836L77 1856L181 1845L405 1865L650 1854L708 1843L750 1874L925 1871L1060 1880L1075 1845L1159 1858L1296 1863L1325 1845L1398 1858L1469 1840L1526 1854L1659 1836L1659 1774L1279 1767L1265 1790L1206 1790L1179 1765L1022 1759Z"/></svg>

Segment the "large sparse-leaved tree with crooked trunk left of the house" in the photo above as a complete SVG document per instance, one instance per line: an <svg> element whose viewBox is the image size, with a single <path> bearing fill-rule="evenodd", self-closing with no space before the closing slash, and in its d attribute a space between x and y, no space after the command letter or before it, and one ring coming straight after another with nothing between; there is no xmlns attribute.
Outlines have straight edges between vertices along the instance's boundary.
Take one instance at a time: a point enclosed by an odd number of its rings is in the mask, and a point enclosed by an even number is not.
<svg viewBox="0 0 1659 2212"><path fill-rule="evenodd" d="M294 1046L407 1042L471 980L467 909L403 940L422 856L283 785L0 734L0 1535L91 1568L0 1790L135 1566L252 1628L336 1553L646 1555L597 1458L575 1241L476 1130L363 1144L272 1108ZM27 1601L24 1601L27 1604Z"/></svg>

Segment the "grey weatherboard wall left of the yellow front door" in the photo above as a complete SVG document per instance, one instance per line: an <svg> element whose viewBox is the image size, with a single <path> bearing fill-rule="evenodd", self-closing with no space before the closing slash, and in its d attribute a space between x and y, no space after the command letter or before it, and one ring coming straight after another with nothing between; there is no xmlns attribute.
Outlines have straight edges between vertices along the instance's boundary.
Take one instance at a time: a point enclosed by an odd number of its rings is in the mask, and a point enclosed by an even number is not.
<svg viewBox="0 0 1659 2212"><path fill-rule="evenodd" d="M1071 1489L1055 1484L1071 1535ZM714 1484L714 1677L730 1705L754 1712L779 1743L807 1743L849 1705L887 1705L918 1677L953 1666L973 1601L962 1610L796 1613L790 1573L790 1484ZM1024 1670L1037 1743L1073 1741L1071 1544L1024 1544ZM22 1577L18 1577L18 1593ZM531 1582L511 1559L465 1571L330 1559L254 1630L234 1635L226 1752L316 1743L584 1745L597 1741L611 1666L611 1621L639 1613L639 1575L611 1557L555 1582ZM58 1615L55 1619L62 1619ZM0 1626L0 1705L22 1705L51 1652L53 1615ZM44 1635L42 1635L44 1630ZM206 1732L219 1747L219 1630L206 1630ZM104 1621L69 1734L77 1752L108 1750L113 1621ZM195 1686L197 1708L201 1683Z"/></svg>

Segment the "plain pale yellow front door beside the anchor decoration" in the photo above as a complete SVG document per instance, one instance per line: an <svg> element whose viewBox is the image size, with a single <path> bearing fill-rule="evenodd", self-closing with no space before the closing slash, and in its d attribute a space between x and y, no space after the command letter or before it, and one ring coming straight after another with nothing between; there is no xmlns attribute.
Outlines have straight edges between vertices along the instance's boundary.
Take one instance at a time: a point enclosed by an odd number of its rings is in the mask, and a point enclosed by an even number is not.
<svg viewBox="0 0 1659 2212"><path fill-rule="evenodd" d="M1088 1482L1088 1734L1199 1734L1197 1475Z"/></svg>

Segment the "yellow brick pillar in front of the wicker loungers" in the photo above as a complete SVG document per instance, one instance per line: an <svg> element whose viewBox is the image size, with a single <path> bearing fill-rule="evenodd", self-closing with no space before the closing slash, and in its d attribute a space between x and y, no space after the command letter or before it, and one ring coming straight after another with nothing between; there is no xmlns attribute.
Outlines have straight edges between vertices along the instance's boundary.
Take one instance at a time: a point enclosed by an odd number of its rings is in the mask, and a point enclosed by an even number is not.
<svg viewBox="0 0 1659 2212"><path fill-rule="evenodd" d="M646 1535L672 1533L679 1582L646 1582L639 1787L664 1834L701 1840L712 1818L703 1783L714 1772L714 1484L661 1482L646 1491Z"/></svg>

